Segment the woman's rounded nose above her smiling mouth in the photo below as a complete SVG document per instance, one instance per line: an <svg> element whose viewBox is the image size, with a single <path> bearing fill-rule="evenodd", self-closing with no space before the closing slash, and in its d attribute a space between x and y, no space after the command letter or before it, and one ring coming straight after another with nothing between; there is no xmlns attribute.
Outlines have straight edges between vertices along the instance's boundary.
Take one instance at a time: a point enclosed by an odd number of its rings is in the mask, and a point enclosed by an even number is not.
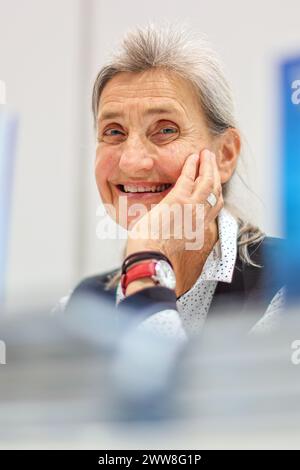
<svg viewBox="0 0 300 470"><path fill-rule="evenodd" d="M154 165L153 157L142 142L127 141L119 160L119 167L125 174L137 175L149 171Z"/></svg>

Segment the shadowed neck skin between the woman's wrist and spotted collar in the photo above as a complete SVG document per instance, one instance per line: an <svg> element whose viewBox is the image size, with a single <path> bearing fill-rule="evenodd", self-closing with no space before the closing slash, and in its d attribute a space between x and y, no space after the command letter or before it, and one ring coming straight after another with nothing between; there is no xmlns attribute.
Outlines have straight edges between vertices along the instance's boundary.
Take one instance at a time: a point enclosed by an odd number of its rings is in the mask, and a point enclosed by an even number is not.
<svg viewBox="0 0 300 470"><path fill-rule="evenodd" d="M200 276L205 261L218 241L218 224L213 221L204 233L201 250L185 250L171 259L176 275L177 298L187 292ZM187 269L188 267L188 269Z"/></svg>

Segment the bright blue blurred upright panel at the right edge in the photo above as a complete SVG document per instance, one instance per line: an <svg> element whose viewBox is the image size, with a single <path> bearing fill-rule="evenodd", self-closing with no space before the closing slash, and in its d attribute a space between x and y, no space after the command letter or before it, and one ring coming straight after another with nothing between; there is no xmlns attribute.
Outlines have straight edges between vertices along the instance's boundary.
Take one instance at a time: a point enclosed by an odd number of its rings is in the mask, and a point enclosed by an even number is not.
<svg viewBox="0 0 300 470"><path fill-rule="evenodd" d="M282 216L286 246L282 269L287 299L300 300L300 56L280 65Z"/></svg>

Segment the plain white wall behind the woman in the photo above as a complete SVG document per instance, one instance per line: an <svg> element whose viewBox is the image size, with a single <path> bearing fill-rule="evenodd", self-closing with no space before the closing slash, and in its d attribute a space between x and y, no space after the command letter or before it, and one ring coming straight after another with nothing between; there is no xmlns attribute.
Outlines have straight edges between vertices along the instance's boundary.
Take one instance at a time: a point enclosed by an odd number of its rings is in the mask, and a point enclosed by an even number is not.
<svg viewBox="0 0 300 470"><path fill-rule="evenodd" d="M275 65L299 54L299 17L298 0L0 0L0 79L20 118L9 305L33 296L51 303L82 276L118 265L120 243L95 235L91 88L118 38L149 20L187 21L221 54L249 144L250 184L264 203L254 212L279 235Z"/></svg>

